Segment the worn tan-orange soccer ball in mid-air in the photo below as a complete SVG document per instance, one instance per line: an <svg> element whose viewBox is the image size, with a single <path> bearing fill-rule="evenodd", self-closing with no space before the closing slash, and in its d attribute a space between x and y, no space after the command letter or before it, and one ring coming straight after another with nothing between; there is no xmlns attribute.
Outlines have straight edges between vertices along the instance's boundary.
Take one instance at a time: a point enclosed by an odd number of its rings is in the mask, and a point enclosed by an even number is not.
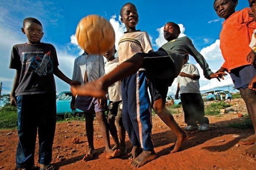
<svg viewBox="0 0 256 170"><path fill-rule="evenodd" d="M105 18L99 15L85 16L77 25L79 46L88 54L103 55L115 44L115 31Z"/></svg>

